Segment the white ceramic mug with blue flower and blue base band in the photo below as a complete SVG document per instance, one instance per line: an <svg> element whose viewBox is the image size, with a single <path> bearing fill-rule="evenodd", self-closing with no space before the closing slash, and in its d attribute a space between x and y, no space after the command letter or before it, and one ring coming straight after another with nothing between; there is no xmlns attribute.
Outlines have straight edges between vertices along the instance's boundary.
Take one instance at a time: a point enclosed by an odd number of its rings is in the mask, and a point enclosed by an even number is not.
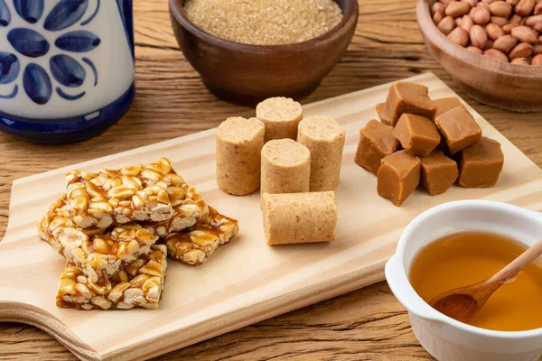
<svg viewBox="0 0 542 361"><path fill-rule="evenodd" d="M77 142L134 95L132 0L0 0L1 130Z"/></svg>

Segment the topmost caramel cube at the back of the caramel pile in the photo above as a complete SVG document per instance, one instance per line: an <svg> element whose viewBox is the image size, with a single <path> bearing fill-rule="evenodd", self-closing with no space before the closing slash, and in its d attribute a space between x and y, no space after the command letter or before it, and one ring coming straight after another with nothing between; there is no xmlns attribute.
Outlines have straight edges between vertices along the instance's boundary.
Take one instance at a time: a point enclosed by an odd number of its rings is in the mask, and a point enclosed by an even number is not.
<svg viewBox="0 0 542 361"><path fill-rule="evenodd" d="M429 119L434 119L436 114L436 105L429 98L427 87L416 83L402 81L394 83L389 88L386 105L392 126L397 124L403 113L425 116Z"/></svg>

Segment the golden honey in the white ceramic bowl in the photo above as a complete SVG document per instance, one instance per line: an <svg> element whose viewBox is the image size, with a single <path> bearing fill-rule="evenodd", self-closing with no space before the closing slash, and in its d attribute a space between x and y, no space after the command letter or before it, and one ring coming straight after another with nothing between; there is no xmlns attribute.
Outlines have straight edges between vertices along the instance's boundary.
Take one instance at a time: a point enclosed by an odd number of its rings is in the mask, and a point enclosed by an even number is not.
<svg viewBox="0 0 542 361"><path fill-rule="evenodd" d="M410 269L410 283L424 301L481 282L527 249L506 236L460 232L426 245ZM542 328L542 267L529 264L502 285L468 324L481 329L524 331Z"/></svg>

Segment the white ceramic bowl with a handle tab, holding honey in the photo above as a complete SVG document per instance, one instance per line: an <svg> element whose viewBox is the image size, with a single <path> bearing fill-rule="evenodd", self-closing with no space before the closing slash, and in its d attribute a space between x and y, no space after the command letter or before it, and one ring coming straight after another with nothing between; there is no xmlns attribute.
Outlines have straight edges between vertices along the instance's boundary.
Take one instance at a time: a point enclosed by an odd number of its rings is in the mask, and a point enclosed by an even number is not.
<svg viewBox="0 0 542 361"><path fill-rule="evenodd" d="M533 245L542 237L542 215L506 203L461 200L431 208L414 219L401 236L396 255L386 264L386 278L408 310L416 338L440 361L538 360L542 329L503 332L472 327L433 309L410 285L408 273L420 248L464 230L489 231Z"/></svg>

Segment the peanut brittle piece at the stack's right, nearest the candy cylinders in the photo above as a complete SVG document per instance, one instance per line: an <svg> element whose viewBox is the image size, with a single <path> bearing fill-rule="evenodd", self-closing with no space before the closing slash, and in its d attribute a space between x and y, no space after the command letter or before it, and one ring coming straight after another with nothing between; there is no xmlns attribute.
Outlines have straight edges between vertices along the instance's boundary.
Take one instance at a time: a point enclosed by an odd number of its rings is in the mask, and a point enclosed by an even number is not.
<svg viewBox="0 0 542 361"><path fill-rule="evenodd" d="M185 264L200 265L238 234L238 221L210 208L209 215L194 227L164 239L168 255Z"/></svg>

